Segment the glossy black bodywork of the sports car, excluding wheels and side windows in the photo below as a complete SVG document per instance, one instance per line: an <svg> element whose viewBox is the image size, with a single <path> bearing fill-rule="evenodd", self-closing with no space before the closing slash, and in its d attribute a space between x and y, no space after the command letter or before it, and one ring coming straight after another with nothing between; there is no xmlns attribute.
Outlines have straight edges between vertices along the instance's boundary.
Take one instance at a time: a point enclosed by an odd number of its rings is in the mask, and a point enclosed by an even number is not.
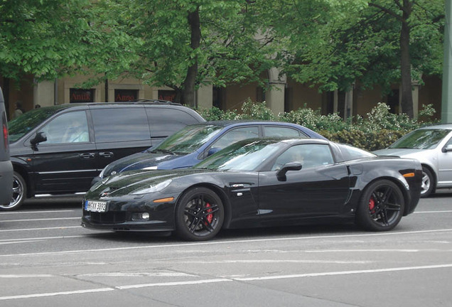
<svg viewBox="0 0 452 307"><path fill-rule="evenodd" d="M303 141L327 143L314 139L298 140ZM291 146L293 142L287 144ZM97 218L102 214L84 210L82 225L97 230L175 230L175 208L178 199L186 190L195 186L210 188L219 195L225 206L223 228L296 225L313 218L328 220L331 217L343 217L346 220L353 220L362 192L367 185L382 178L389 178L402 190L405 203L403 215L414 211L420 195L419 162L394 157L344 161L338 146L331 142L328 144L335 156L333 165L289 171L286 174L286 181L278 179L276 171L270 171L269 166L274 161L268 161L257 171L240 173L196 168L124 172L110 177L107 185L100 185L85 195L86 200L106 200L109 212L104 215L121 214L124 215L124 220L122 222L102 220ZM281 148L279 153L285 149L286 147ZM414 172L416 176L404 178L400 170L403 170L402 173ZM303 177L309 180L294 183L296 179ZM149 185L170 178L173 180L171 185L160 192L129 195L138 185ZM100 197L99 194L104 192L105 186L108 186L111 193ZM174 197L171 202L153 203L154 200L166 198L168 195ZM150 212L152 221L131 221L129 217L133 212Z"/></svg>

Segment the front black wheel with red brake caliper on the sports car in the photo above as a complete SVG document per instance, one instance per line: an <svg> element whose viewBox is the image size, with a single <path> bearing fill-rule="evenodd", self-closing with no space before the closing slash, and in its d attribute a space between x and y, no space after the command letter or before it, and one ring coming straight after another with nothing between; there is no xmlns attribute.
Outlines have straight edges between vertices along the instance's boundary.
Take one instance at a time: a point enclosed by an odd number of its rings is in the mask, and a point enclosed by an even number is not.
<svg viewBox="0 0 452 307"><path fill-rule="evenodd" d="M183 239L205 241L220 231L225 210L218 195L208 188L193 188L176 207L176 232Z"/></svg>

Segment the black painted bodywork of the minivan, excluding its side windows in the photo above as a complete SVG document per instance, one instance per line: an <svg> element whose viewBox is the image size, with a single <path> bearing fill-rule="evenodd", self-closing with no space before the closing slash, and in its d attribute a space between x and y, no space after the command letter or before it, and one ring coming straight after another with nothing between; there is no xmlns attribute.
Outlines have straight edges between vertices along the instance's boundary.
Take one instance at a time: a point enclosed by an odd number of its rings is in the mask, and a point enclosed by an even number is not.
<svg viewBox="0 0 452 307"><path fill-rule="evenodd" d="M146 102L132 103L87 103L61 104L50 107L57 109L52 117L41 122L26 133L21 139L11 142L11 162L14 171L21 174L27 183L27 196L36 194L60 195L85 193L91 186L92 178L112 161L129 156L149 148L151 142L158 144L167 135L151 135L151 139L141 141L104 142L95 141L95 131L90 112L92 110L113 109L144 109L151 104ZM178 105L155 104L159 109L184 108ZM45 109L44 107L41 109ZM33 146L36 132L60 114L85 111L90 132L90 141L80 144L37 144ZM193 110L193 123L204 119ZM125 114L125 112L124 112ZM112 123L114 125L114 123ZM174 131L168 131L172 134Z"/></svg>

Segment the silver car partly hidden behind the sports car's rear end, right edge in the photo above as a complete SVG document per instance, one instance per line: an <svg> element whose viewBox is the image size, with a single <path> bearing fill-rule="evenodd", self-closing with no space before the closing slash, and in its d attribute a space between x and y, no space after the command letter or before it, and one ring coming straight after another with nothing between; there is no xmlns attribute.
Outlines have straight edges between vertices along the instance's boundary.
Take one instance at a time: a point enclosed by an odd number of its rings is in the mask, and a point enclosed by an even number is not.
<svg viewBox="0 0 452 307"><path fill-rule="evenodd" d="M416 158L422 164L421 197L452 188L452 124L425 126L409 132L377 155Z"/></svg>

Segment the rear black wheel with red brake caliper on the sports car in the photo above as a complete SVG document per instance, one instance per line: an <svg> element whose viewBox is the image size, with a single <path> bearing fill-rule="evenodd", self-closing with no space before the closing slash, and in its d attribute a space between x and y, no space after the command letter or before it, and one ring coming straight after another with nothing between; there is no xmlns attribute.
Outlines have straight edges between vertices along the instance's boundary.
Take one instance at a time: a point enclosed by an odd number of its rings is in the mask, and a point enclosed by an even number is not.
<svg viewBox="0 0 452 307"><path fill-rule="evenodd" d="M392 181L375 181L362 193L357 223L365 230L392 230L399 224L403 212L404 196L400 188Z"/></svg>

